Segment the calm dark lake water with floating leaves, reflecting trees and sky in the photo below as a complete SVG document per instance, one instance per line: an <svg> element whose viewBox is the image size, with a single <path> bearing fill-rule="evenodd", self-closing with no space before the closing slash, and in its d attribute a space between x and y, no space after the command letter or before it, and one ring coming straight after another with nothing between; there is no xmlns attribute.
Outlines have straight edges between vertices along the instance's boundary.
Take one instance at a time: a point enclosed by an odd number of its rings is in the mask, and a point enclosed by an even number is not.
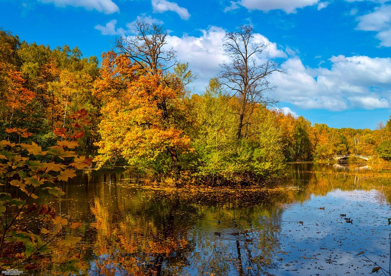
<svg viewBox="0 0 391 276"><path fill-rule="evenodd" d="M143 188L123 169L83 172L51 200L82 222L70 234L88 275L369 275L365 256L388 270L389 183L368 167L290 166L266 195Z"/></svg>

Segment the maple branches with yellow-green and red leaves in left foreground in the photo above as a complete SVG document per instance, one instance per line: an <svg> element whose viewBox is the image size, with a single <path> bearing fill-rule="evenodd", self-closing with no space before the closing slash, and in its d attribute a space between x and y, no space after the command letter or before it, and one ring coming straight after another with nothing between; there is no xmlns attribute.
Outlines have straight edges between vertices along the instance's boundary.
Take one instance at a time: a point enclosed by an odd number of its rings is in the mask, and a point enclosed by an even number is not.
<svg viewBox="0 0 391 276"><path fill-rule="evenodd" d="M73 149L84 134L77 131L86 125L87 112L82 109L70 116L68 129L56 128L54 133L62 137L55 146L43 150L39 145L0 141L0 266L2 270L19 268L37 269L45 256L51 255L50 265L56 273L79 273L85 266L80 255L71 249L80 237L60 236L66 228L76 228L78 223L68 223L48 205L39 206L35 201L37 191L46 191L60 197L64 191L56 184L76 176L77 169L90 166L91 159L78 156ZM32 133L27 129L7 128L9 139L18 141ZM15 139L12 139L15 138ZM18 139L19 138L19 139ZM72 139L72 140L70 140ZM35 224L45 226L41 233L33 233L27 217L36 217ZM59 255L53 258L54 255ZM60 253L60 254L59 254ZM56 264L54 264L56 263Z"/></svg>

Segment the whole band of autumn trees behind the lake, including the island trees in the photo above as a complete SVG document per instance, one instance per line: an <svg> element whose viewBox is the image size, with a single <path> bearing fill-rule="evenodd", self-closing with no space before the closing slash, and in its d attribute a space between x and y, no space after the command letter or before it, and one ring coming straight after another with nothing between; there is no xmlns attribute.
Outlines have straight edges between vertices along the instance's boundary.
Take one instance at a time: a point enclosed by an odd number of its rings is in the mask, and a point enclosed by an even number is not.
<svg viewBox="0 0 391 276"><path fill-rule="evenodd" d="M260 184L281 176L286 161L391 158L391 121L376 130L336 129L269 108L269 76L283 68L254 61L265 45L255 44L250 26L227 34L230 62L200 95L188 64L166 49L164 29L135 27L138 34L119 38L101 64L77 47L50 49L0 30L0 140L9 139L6 128L28 129L34 135L19 139L45 149L84 108L79 153L98 168L130 165L166 181Z"/></svg>

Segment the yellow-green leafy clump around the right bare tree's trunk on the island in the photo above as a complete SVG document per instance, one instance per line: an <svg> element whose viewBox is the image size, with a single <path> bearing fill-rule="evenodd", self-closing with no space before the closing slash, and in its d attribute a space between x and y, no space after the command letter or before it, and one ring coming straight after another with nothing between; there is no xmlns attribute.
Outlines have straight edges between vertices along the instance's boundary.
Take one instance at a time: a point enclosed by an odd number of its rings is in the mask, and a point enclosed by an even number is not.
<svg viewBox="0 0 391 276"><path fill-rule="evenodd" d="M193 145L195 175L212 185L261 184L283 171L281 132L273 112L254 110L240 140L235 139L236 98L212 79L202 96L193 96L196 113Z"/></svg>

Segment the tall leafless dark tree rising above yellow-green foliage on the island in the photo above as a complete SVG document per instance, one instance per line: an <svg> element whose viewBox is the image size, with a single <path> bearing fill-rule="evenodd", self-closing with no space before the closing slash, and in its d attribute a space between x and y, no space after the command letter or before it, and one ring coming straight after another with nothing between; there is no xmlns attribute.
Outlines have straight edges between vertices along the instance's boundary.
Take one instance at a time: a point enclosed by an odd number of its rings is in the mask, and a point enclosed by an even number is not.
<svg viewBox="0 0 391 276"><path fill-rule="evenodd" d="M239 31L227 33L223 46L231 61L220 65L220 78L233 95L239 98L239 140L242 127L249 124L254 108L276 103L273 99L267 99L264 92L274 88L270 85L268 76L273 72L282 72L282 69L280 64L271 60L259 62L260 56L266 52L267 44L254 41L252 26L241 25Z"/></svg>

